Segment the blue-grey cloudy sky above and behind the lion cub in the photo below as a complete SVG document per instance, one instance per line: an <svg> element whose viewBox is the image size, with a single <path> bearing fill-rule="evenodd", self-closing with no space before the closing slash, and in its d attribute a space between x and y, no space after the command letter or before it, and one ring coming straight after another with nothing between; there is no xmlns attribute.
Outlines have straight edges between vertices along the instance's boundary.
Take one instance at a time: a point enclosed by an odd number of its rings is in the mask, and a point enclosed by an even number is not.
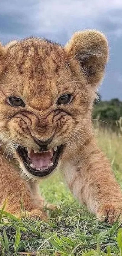
<svg viewBox="0 0 122 256"><path fill-rule="evenodd" d="M109 40L102 99L122 100L122 0L1 0L0 40L27 36L65 44L76 30L95 28Z"/></svg>

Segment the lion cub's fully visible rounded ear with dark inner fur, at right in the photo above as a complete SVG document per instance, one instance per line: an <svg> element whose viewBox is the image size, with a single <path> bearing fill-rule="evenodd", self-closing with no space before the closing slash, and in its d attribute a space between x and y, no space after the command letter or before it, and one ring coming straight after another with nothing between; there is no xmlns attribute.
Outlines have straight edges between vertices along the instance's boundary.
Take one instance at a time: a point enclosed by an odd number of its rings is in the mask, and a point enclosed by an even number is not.
<svg viewBox="0 0 122 256"><path fill-rule="evenodd" d="M78 61L87 81L97 85L103 78L108 60L108 44L105 36L96 30L78 31L66 44L65 51Z"/></svg>

